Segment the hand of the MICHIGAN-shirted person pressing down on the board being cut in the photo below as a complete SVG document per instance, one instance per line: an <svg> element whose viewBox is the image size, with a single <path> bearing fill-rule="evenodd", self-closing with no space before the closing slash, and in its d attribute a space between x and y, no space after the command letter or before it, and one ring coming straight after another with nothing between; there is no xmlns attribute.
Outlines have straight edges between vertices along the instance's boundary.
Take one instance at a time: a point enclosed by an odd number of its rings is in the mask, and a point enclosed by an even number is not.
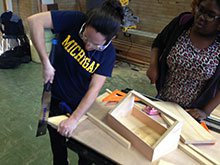
<svg viewBox="0 0 220 165"><path fill-rule="evenodd" d="M57 132L59 132L62 136L70 137L77 127L77 121L73 118L68 118L66 120L63 120L59 125Z"/></svg>

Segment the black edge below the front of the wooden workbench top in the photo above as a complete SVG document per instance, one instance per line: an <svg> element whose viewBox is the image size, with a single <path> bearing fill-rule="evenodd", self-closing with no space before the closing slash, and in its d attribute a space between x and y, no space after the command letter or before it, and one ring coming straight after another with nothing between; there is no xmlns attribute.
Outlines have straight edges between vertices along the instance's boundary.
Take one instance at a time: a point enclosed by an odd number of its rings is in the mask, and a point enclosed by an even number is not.
<svg viewBox="0 0 220 165"><path fill-rule="evenodd" d="M85 146L84 144L74 139L69 139L66 144L69 149L85 157L87 160L91 161L92 164L95 164L95 165L116 165L117 164L113 162L112 160L106 158L105 156L99 154L98 152L94 151L93 149Z"/></svg>

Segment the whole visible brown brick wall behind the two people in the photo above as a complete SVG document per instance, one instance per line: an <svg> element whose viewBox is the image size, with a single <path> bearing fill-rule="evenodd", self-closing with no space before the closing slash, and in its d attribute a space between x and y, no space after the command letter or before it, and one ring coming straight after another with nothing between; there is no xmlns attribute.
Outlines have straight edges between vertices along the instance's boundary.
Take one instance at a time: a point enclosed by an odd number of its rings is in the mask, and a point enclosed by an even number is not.
<svg viewBox="0 0 220 165"><path fill-rule="evenodd" d="M192 0L131 0L129 7L133 14L140 18L137 25L139 30L159 33L171 19L183 11L191 11ZM86 0L55 0L60 10L86 10ZM19 5L18 5L19 3ZM26 18L37 13L37 0L29 1L13 1L13 9L18 14L26 26ZM26 30L28 31L28 30ZM114 43L118 54L122 54L122 58L131 63L142 62L141 65L148 66L149 52L152 38L131 35L125 37L121 32ZM124 46L121 46L121 43ZM119 44L119 45L117 45ZM126 47L126 45L128 45ZM119 57L119 56L118 56ZM137 60L137 57L140 59ZM142 60L143 59L143 60Z"/></svg>

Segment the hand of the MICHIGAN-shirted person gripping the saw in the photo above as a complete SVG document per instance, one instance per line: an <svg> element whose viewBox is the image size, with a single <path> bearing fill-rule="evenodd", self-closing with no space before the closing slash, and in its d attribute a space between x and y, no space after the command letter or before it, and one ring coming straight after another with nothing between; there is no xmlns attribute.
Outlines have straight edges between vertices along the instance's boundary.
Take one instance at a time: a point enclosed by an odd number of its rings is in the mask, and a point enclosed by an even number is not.
<svg viewBox="0 0 220 165"><path fill-rule="evenodd" d="M53 78L55 75L55 69L48 61L47 64L43 65L43 78L44 83L50 82L53 83Z"/></svg>

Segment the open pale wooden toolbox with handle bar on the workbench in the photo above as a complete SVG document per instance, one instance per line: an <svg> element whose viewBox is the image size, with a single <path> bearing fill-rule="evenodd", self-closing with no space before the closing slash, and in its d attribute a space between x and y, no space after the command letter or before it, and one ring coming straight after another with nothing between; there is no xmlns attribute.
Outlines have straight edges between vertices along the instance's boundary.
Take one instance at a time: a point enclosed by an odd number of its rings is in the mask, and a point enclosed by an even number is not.
<svg viewBox="0 0 220 165"><path fill-rule="evenodd" d="M174 123L165 128L134 104L135 97L169 116ZM154 161L177 148L183 122L156 102L131 91L108 113L107 124L150 161Z"/></svg>

